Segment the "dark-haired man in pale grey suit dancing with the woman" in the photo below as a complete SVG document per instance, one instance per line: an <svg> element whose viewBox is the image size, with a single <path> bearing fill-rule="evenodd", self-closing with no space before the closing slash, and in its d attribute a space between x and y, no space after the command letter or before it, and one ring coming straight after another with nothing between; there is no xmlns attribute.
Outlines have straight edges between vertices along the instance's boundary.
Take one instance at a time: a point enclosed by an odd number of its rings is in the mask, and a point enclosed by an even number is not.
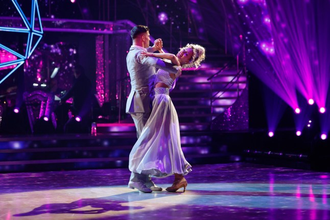
<svg viewBox="0 0 330 220"><path fill-rule="evenodd" d="M176 75L181 74L181 66L173 66L155 57L141 55L142 52L155 52L161 50L161 39L155 40L152 47L149 46L150 34L146 26L135 26L131 30L133 44L127 54L127 69L131 79L131 92L126 104L126 113L131 114L139 137L143 127L147 123L151 113L150 93L156 74L155 68L160 68ZM131 174L128 183L129 188L137 188L142 192L161 191L145 174Z"/></svg>

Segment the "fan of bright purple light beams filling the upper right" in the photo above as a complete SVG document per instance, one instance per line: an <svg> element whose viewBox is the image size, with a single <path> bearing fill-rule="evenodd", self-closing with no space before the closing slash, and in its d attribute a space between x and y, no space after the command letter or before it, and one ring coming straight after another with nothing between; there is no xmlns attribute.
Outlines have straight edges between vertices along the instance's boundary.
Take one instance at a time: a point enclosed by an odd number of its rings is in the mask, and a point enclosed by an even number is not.
<svg viewBox="0 0 330 220"><path fill-rule="evenodd" d="M253 37L256 40L253 44L246 41L247 67L294 110L299 106L297 90L310 105L314 102L325 107L330 85L327 62L330 41L328 29L318 27L328 27L330 13L326 9L330 2L267 1L267 8L260 5L258 10L256 4L248 5L252 2L259 1L237 1L246 5L239 7L239 15L244 19L242 27L249 24L246 30L249 40L252 42ZM270 46L274 47L274 54L269 53ZM301 110L304 115L305 111L309 114L306 108ZM297 121L302 119L300 115L296 115ZM297 130L302 129L304 121L298 122L301 126Z"/></svg>

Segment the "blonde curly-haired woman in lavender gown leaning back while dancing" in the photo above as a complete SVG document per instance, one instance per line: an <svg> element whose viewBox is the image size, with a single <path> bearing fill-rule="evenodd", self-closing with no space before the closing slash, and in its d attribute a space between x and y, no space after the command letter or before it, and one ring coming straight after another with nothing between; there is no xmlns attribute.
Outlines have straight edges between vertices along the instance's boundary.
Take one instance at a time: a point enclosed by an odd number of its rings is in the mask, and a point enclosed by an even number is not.
<svg viewBox="0 0 330 220"><path fill-rule="evenodd" d="M205 49L198 44L187 44L174 54L143 52L145 56L170 60L174 65L198 67L205 59ZM178 115L169 96L176 79L175 74L159 69L157 71L150 118L133 146L129 156L131 172L167 177L174 174L174 183L167 191L176 191L187 186L184 176L191 172L191 165L181 150Z"/></svg>

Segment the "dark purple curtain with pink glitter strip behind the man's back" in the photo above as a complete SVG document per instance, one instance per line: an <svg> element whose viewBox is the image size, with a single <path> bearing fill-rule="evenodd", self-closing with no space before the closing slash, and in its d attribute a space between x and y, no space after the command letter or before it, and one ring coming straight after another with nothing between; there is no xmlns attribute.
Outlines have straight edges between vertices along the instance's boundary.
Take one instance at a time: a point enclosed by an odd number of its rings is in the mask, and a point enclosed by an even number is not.
<svg viewBox="0 0 330 220"><path fill-rule="evenodd" d="M131 37L126 34L100 35L96 38L97 94L103 105L109 102L113 114L126 117L125 105L130 91L126 56ZM123 111L123 112L122 112Z"/></svg>

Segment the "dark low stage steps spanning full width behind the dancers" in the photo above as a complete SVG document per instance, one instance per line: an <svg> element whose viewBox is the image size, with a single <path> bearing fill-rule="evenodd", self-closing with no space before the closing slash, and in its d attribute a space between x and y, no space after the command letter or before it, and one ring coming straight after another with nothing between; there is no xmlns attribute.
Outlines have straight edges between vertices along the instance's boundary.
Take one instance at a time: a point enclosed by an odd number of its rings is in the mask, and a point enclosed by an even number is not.
<svg viewBox="0 0 330 220"><path fill-rule="evenodd" d="M136 141L135 132L22 139L0 142L0 172L127 167ZM181 132L181 145L192 165L249 161L330 170L328 140L308 133L297 137L293 131L278 131L270 138L266 131L190 131Z"/></svg>

